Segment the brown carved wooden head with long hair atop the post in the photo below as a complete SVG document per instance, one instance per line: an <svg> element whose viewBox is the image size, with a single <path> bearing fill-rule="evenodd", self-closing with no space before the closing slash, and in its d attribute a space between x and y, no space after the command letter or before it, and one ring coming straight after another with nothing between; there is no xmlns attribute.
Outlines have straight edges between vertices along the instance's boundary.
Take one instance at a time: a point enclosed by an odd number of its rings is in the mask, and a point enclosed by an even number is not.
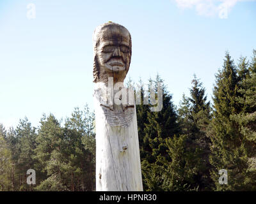
<svg viewBox="0 0 256 204"><path fill-rule="evenodd" d="M131 34L122 25L108 22L93 33L93 82L124 82L132 54Z"/></svg>

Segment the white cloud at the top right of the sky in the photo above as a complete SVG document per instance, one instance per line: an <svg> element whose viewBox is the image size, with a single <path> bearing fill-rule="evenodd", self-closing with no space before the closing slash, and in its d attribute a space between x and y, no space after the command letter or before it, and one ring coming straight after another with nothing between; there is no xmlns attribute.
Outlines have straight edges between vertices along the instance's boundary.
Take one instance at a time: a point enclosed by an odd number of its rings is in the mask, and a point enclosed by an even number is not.
<svg viewBox="0 0 256 204"><path fill-rule="evenodd" d="M240 1L255 0L175 0L179 8L195 8L198 15L227 18L228 13Z"/></svg>

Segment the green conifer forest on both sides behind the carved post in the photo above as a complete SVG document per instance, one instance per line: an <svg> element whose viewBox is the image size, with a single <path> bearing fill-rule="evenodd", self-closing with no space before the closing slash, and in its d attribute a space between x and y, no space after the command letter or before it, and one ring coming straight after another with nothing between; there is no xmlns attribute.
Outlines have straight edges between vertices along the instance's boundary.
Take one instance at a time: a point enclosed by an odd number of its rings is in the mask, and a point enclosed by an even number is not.
<svg viewBox="0 0 256 204"><path fill-rule="evenodd" d="M148 80L156 96L163 84L163 109L136 105L144 191L256 191L256 50L237 62L227 52L220 67L212 100L194 75L179 106L160 75ZM94 127L88 105L65 120L43 114L37 128L26 117L15 128L0 124L0 191L95 191Z"/></svg>

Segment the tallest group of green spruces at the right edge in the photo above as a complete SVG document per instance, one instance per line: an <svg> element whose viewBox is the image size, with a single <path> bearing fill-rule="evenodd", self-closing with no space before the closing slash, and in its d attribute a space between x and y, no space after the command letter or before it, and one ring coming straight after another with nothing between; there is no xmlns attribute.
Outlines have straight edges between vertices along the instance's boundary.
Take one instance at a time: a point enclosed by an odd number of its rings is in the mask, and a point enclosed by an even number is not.
<svg viewBox="0 0 256 204"><path fill-rule="evenodd" d="M255 56L255 55L254 55ZM216 75L214 119L209 132L212 141L211 170L217 191L255 190L255 61L241 58L238 69L230 55ZM218 170L228 171L228 185L218 182Z"/></svg>

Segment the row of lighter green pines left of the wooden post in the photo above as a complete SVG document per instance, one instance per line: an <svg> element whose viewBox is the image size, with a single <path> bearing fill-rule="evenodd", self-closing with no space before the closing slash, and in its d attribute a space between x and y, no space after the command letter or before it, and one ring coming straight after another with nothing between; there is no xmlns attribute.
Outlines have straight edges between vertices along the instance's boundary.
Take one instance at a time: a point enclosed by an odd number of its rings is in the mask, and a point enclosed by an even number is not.
<svg viewBox="0 0 256 204"><path fill-rule="evenodd" d="M28 119L7 133L0 125L0 190L93 191L95 189L94 113L75 108L65 127L43 115L38 129ZM36 186L26 172L36 171Z"/></svg>

